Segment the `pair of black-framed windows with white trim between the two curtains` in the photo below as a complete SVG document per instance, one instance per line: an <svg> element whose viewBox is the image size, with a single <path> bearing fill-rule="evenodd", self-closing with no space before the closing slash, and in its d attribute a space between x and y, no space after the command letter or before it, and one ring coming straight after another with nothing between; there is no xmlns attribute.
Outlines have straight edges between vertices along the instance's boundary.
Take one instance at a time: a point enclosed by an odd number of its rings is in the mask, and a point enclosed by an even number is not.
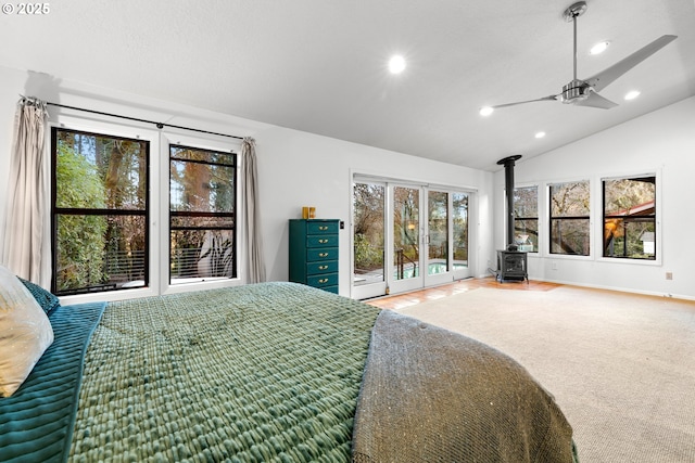
<svg viewBox="0 0 695 463"><path fill-rule="evenodd" d="M238 278L239 159L232 146L71 124L76 127L51 129L55 294L111 300L128 296L96 293L153 295ZM181 285L189 282L201 284Z"/></svg>

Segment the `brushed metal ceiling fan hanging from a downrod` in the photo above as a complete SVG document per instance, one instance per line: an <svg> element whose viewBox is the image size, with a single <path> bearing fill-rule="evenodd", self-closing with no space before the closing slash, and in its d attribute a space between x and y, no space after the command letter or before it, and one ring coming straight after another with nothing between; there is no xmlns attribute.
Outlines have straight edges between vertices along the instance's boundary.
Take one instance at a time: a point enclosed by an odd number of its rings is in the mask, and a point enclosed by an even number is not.
<svg viewBox="0 0 695 463"><path fill-rule="evenodd" d="M573 23L574 28L574 74L572 81L563 87L563 92L557 94L552 94L543 98L539 98L535 100L527 100L527 101L518 101L516 103L506 103L498 104L496 106L485 106L480 110L480 114L488 115L492 113L492 111L506 107L506 106L515 106L517 104L526 104L533 103L536 101L557 101L558 99L563 103L567 104L576 104L578 106L591 106L598 107L602 110L609 110L611 107L617 106L617 103L603 98L598 94L601 90L610 85L618 77L626 74L628 70L632 69L637 64L642 63L644 60L675 40L677 36L661 36L652 43L646 47L635 51L628 57L619 61L612 66L602 70L601 73L587 78L587 79L578 79L577 78L577 18L584 14L586 11L586 2L579 1L577 3L571 4L565 12L563 13L563 17L568 23L571 21Z"/></svg>

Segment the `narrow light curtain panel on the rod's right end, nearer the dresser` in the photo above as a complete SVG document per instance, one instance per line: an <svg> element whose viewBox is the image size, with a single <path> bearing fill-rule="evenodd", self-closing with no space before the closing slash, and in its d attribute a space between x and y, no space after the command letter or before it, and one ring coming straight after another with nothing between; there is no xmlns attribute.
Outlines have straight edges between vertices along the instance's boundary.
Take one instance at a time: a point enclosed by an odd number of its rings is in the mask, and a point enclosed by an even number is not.
<svg viewBox="0 0 695 463"><path fill-rule="evenodd" d="M256 168L256 142L251 137L241 143L243 156L244 185L244 228L247 248L247 282L261 283L265 281L265 261L263 258L263 243L261 240L261 215L258 207L258 180Z"/></svg>

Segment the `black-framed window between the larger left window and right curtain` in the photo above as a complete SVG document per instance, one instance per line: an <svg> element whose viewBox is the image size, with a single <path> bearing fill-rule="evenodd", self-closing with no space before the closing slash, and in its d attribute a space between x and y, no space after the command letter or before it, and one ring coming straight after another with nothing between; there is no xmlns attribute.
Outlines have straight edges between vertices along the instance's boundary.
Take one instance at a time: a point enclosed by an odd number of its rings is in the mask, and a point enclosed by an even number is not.
<svg viewBox="0 0 695 463"><path fill-rule="evenodd" d="M170 284L236 278L237 155L169 146Z"/></svg>

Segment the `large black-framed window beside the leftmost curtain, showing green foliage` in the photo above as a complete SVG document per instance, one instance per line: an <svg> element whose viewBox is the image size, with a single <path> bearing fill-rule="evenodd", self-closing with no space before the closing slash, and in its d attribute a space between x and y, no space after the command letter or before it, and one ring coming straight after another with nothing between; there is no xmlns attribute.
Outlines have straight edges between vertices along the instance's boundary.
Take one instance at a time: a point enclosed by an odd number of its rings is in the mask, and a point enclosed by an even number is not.
<svg viewBox="0 0 695 463"><path fill-rule="evenodd" d="M149 142L53 128L52 292L149 284Z"/></svg>

